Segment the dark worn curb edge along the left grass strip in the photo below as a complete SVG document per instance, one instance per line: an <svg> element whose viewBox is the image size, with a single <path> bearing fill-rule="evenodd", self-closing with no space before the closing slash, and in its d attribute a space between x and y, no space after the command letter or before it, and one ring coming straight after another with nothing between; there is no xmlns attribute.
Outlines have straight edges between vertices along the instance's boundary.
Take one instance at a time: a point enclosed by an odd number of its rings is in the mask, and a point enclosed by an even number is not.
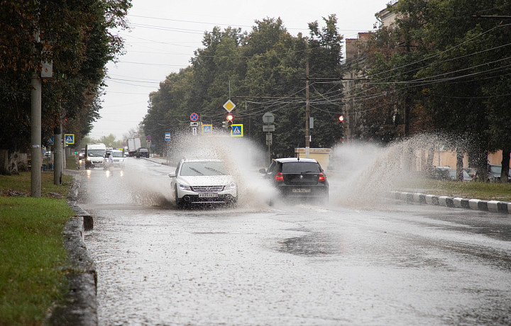
<svg viewBox="0 0 511 326"><path fill-rule="evenodd" d="M85 230L92 230L92 216L76 204L79 185L73 181L67 203L76 216L64 226L62 235L67 250L69 293L48 317L50 325L97 326L97 271L84 243Z"/></svg>

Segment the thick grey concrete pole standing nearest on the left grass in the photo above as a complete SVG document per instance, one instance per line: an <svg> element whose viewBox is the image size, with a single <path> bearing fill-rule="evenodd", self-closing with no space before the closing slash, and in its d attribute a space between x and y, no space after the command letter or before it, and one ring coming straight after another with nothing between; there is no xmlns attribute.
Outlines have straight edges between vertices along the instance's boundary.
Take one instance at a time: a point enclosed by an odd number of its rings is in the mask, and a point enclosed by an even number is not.
<svg viewBox="0 0 511 326"><path fill-rule="evenodd" d="M34 32L34 42L39 42L39 33ZM35 55L35 45L34 45ZM35 68L36 69L36 68ZM31 196L40 198L41 164L43 152L41 149L41 80L35 70L31 75L31 144L32 144L32 167L31 167Z"/></svg>

